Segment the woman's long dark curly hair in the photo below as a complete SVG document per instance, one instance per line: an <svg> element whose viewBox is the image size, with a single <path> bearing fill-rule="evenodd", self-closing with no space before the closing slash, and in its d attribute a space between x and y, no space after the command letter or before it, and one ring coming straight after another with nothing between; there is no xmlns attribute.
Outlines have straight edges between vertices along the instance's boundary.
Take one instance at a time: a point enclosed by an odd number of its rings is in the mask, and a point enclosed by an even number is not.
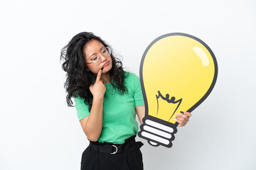
<svg viewBox="0 0 256 170"><path fill-rule="evenodd" d="M84 103L89 106L89 111L92 108L92 94L90 92L90 84L92 84L96 77L92 72L87 71L87 65L85 63L85 55L83 52L83 47L90 40L97 40L102 43L105 47L107 45L100 37L97 37L93 33L82 32L75 35L68 45L65 45L61 50L60 62L63 60L62 68L66 74L66 81L64 83L64 88L68 95L66 96L66 101L69 107L73 107L72 97L85 98ZM110 79L114 89L118 91L119 94L127 93L127 88L124 86L124 69L122 67L122 62L110 55L112 58L112 69L110 69Z"/></svg>

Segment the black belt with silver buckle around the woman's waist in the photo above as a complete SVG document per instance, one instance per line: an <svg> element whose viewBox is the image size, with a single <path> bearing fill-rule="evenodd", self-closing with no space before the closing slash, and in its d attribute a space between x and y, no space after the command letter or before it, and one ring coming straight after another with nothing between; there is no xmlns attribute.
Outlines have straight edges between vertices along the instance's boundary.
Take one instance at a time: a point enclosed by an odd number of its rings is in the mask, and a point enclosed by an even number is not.
<svg viewBox="0 0 256 170"><path fill-rule="evenodd" d="M142 147L143 143L136 142L134 139L135 137L136 135L127 138L122 145L113 144L110 142L91 142L90 141L89 148L99 152L104 152L109 154L124 154L127 152L132 152Z"/></svg>

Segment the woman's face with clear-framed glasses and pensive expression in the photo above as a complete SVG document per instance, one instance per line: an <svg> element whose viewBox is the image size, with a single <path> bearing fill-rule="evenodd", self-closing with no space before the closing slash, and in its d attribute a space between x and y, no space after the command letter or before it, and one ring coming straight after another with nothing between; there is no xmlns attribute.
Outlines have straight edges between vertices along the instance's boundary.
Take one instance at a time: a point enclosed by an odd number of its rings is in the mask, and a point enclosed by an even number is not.
<svg viewBox="0 0 256 170"><path fill-rule="evenodd" d="M90 72L97 74L102 67L104 67L102 74L106 74L107 72L110 71L112 68L112 58L111 56L109 57L104 57L102 55L102 49L104 49L105 46L102 45L101 42L97 40L90 40L85 44L83 47L83 52L85 54L85 62L91 63L95 57L101 57L101 62L98 65L95 64L87 64L87 68L90 70Z"/></svg>

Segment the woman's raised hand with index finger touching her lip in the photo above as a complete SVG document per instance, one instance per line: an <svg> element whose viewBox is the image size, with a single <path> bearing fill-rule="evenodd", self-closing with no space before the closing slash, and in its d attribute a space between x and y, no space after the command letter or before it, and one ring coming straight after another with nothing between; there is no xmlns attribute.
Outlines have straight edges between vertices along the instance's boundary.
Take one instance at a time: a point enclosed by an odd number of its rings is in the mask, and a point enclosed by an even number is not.
<svg viewBox="0 0 256 170"><path fill-rule="evenodd" d="M97 73L95 84L90 85L90 92L92 93L93 98L104 98L106 87L100 79L101 74L102 69Z"/></svg>

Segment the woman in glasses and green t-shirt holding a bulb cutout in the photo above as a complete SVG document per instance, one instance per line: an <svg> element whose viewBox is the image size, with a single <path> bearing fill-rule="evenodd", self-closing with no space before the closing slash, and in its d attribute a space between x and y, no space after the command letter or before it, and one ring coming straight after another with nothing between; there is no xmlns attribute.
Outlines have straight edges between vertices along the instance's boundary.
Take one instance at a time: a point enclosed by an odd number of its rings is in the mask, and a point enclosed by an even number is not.
<svg viewBox="0 0 256 170"><path fill-rule="evenodd" d="M145 108L139 77L124 72L110 45L92 33L78 33L60 56L67 72L67 103L75 99L78 118L90 145L81 169L143 169L142 142L135 142ZM186 125L191 113L177 115Z"/></svg>

